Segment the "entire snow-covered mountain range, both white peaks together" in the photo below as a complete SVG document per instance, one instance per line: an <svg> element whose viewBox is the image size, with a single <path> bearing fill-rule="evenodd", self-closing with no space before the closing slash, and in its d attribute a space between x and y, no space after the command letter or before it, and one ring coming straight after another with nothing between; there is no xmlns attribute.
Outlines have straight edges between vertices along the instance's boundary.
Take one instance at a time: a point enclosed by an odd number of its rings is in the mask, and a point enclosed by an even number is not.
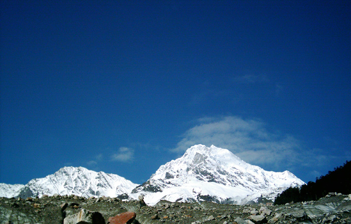
<svg viewBox="0 0 351 224"><path fill-rule="evenodd" d="M288 187L302 184L301 179L287 170L266 171L246 163L227 149L194 145L182 157L161 165L142 185L116 174L63 167L26 185L6 186L11 189L8 193L11 197L74 194L128 200L138 199L142 194L148 205L154 205L160 200L222 204L246 204L262 198L273 201ZM5 194L3 191L0 185L0 196Z"/></svg>

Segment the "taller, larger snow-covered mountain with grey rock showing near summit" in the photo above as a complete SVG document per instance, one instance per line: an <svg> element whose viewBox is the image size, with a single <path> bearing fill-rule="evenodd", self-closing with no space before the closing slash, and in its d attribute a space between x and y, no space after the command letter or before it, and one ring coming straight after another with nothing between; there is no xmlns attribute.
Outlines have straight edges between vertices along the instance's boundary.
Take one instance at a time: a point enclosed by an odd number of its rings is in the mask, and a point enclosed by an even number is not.
<svg viewBox="0 0 351 224"><path fill-rule="evenodd" d="M286 188L302 184L289 171L266 171L229 150L195 145L181 158L158 168L131 196L143 194L149 205L160 200L245 204L261 196L274 199Z"/></svg>

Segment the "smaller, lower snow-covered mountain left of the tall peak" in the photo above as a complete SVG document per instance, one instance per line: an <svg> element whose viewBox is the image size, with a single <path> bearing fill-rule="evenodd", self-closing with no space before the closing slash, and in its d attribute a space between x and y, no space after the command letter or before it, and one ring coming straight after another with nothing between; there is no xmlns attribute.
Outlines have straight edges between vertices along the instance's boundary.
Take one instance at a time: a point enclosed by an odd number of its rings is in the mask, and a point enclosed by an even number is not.
<svg viewBox="0 0 351 224"><path fill-rule="evenodd" d="M83 167L64 167L44 178L30 180L17 195L11 197L41 197L44 194L117 197L130 193L136 186L138 184L116 174L95 172Z"/></svg>

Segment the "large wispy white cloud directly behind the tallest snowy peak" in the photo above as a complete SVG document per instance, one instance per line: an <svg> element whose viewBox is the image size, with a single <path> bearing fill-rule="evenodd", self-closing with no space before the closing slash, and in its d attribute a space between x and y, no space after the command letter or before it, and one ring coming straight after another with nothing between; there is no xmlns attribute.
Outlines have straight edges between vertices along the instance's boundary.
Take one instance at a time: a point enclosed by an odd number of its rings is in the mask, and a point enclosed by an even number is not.
<svg viewBox="0 0 351 224"><path fill-rule="evenodd" d="M257 119L236 116L204 117L186 131L177 147L179 154L196 144L225 148L244 161L270 168L289 168L301 162L302 147L298 139L287 134L268 131Z"/></svg>

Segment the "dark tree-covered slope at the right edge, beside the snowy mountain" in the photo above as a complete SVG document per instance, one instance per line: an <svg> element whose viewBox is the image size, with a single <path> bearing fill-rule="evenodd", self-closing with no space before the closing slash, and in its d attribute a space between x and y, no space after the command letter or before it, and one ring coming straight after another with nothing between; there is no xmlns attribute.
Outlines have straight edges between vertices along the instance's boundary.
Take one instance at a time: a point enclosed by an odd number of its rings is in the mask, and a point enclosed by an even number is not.
<svg viewBox="0 0 351 224"><path fill-rule="evenodd" d="M283 191L275 199L276 205L282 205L289 202L302 202L318 200L329 192L338 192L342 194L351 193L351 161L334 168L328 174L316 178L315 182L309 181L307 184L298 187L290 187Z"/></svg>

